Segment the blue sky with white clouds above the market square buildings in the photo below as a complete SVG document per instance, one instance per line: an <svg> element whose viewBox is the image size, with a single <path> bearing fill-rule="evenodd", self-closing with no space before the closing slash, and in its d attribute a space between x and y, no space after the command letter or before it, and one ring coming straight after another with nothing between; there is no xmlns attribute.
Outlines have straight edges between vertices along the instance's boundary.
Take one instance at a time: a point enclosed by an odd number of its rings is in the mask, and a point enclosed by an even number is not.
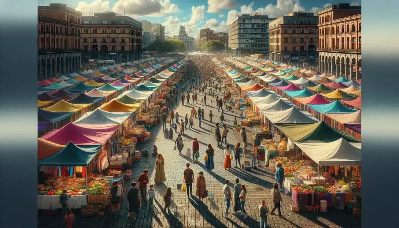
<svg viewBox="0 0 399 228"><path fill-rule="evenodd" d="M165 26L165 35L179 32L186 27L190 36L201 28L227 32L228 25L239 14L259 13L278 18L293 11L317 12L328 3L352 3L354 0L38 0L39 5L64 3L89 15L90 12L113 11L135 18L158 22ZM360 0L356 0L358 4Z"/></svg>

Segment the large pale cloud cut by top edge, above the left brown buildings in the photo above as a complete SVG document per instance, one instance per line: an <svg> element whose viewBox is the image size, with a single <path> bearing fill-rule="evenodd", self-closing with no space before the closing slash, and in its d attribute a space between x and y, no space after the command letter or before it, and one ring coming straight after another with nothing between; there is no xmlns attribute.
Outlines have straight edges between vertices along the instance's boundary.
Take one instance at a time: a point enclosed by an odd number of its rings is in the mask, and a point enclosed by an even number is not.
<svg viewBox="0 0 399 228"><path fill-rule="evenodd" d="M165 14L180 12L180 9L170 0L118 0L112 7L112 11L131 17L162 17Z"/></svg>

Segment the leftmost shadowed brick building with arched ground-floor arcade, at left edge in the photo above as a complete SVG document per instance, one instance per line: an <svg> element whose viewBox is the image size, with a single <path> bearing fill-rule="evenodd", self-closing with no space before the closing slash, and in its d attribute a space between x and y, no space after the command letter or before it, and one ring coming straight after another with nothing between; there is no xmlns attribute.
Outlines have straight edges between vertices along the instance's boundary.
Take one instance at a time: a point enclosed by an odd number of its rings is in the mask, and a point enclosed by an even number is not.
<svg viewBox="0 0 399 228"><path fill-rule="evenodd" d="M81 69L81 16L72 6L38 6L38 80Z"/></svg>

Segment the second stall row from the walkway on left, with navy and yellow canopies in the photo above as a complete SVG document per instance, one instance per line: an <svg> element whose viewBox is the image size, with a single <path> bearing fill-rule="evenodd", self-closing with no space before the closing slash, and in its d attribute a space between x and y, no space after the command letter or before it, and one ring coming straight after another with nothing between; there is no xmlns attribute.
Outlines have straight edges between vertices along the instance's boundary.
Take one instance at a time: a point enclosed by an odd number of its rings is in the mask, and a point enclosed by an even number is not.
<svg viewBox="0 0 399 228"><path fill-rule="evenodd" d="M176 61L175 58L168 57L156 60L159 60L159 62L150 60L145 64L135 65L134 69L130 67L118 73L99 77L99 79L108 77L110 80L107 83L90 80L86 83L74 84L75 86L69 89L58 89L51 94L49 92L41 93L38 95L38 135L41 136L48 131L59 129L65 124L77 120L86 112L97 109ZM148 66L149 64L153 65ZM139 67L146 68L136 71L136 68ZM124 73L130 73L130 75ZM152 82L145 82L144 86L148 84L151 86Z"/></svg>

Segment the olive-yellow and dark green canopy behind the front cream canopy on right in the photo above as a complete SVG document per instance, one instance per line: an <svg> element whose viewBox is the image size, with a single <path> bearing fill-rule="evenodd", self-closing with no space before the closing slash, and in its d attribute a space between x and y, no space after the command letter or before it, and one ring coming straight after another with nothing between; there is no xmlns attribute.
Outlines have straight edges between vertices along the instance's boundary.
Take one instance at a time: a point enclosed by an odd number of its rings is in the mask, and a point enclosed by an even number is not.
<svg viewBox="0 0 399 228"><path fill-rule="evenodd" d="M288 138L298 143L330 143L344 138L350 143L359 143L360 140L345 131L334 129L324 123L276 123L275 124Z"/></svg>

